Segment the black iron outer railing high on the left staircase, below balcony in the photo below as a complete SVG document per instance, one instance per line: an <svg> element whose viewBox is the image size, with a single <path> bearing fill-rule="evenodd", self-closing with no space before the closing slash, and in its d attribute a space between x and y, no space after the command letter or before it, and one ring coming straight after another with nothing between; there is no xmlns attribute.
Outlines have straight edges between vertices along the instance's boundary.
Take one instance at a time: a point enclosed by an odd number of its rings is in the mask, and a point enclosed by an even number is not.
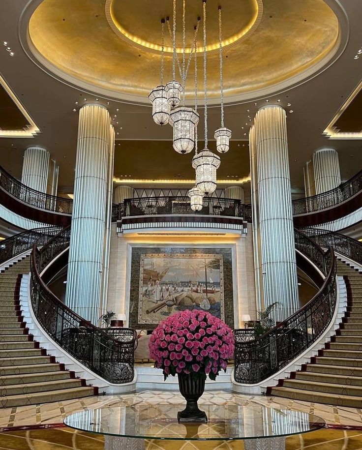
<svg viewBox="0 0 362 450"><path fill-rule="evenodd" d="M0 242L0 264L30 250L34 242L38 246L44 245L48 240L54 238L60 230L61 227L33 228L2 240Z"/></svg>

